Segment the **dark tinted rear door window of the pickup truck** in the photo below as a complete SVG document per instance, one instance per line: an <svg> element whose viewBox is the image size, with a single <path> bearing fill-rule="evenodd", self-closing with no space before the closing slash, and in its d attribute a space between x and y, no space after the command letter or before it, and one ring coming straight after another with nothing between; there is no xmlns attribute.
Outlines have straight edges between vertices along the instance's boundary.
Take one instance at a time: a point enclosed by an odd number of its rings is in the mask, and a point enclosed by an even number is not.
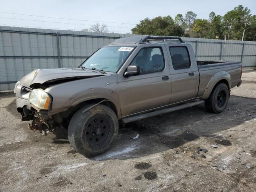
<svg viewBox="0 0 256 192"><path fill-rule="evenodd" d="M175 70L190 68L190 58L186 47L169 47L169 50Z"/></svg>

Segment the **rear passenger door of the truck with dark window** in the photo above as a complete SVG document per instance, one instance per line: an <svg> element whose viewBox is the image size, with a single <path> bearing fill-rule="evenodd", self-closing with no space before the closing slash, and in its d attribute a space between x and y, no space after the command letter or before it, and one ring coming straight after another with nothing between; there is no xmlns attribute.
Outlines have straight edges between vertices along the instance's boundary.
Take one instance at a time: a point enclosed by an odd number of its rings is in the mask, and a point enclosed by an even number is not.
<svg viewBox="0 0 256 192"><path fill-rule="evenodd" d="M192 47L188 44L166 44L172 76L171 104L196 98L199 72Z"/></svg>

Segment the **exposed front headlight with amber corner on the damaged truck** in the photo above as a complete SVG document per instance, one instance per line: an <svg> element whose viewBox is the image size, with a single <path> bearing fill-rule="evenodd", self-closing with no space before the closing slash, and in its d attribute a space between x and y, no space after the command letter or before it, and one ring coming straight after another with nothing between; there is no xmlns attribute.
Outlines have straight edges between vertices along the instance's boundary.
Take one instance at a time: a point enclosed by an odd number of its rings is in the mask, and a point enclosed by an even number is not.
<svg viewBox="0 0 256 192"><path fill-rule="evenodd" d="M29 96L29 102L39 109L49 109L51 98L42 89L33 89Z"/></svg>

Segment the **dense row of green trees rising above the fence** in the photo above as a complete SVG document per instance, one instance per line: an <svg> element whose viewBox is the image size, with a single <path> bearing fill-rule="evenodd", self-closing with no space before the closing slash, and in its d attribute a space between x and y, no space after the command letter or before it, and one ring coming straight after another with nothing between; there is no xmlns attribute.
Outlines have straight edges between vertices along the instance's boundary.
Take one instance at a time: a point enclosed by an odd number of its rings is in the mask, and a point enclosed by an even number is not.
<svg viewBox="0 0 256 192"><path fill-rule="evenodd" d="M145 18L132 29L133 34L185 36L242 40L246 26L244 40L256 41L256 15L250 14L250 9L242 5L236 6L224 16L211 12L208 20L196 19L197 15L188 11L185 17L177 14L173 20L170 16Z"/></svg>

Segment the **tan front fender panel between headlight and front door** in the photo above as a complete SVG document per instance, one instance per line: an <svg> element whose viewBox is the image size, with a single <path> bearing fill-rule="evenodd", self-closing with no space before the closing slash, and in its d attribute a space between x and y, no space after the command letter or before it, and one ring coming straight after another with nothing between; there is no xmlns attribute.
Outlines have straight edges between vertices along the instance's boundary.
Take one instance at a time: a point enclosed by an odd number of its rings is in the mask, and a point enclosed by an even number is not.
<svg viewBox="0 0 256 192"><path fill-rule="evenodd" d="M117 74L56 84L45 90L53 98L48 115L68 110L82 102L107 99L120 112ZM108 83L108 85L106 85Z"/></svg>

